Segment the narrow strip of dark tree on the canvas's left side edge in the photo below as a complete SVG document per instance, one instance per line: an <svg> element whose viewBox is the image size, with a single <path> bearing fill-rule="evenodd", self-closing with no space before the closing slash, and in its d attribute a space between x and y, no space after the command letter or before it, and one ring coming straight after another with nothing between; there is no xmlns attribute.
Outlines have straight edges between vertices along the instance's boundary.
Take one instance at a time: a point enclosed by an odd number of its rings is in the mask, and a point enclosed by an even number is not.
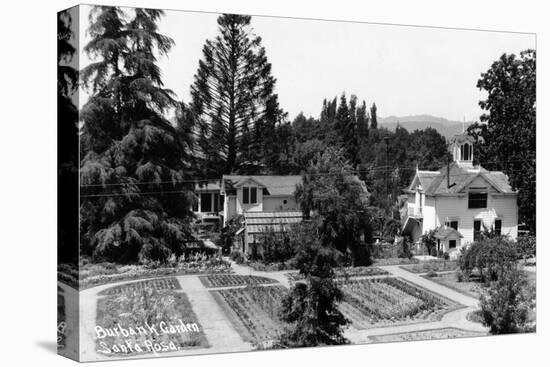
<svg viewBox="0 0 550 367"><path fill-rule="evenodd" d="M73 102L78 71L72 16L69 10L57 17L57 141L58 141L58 259L78 262L78 109ZM71 200L72 199L72 200Z"/></svg>

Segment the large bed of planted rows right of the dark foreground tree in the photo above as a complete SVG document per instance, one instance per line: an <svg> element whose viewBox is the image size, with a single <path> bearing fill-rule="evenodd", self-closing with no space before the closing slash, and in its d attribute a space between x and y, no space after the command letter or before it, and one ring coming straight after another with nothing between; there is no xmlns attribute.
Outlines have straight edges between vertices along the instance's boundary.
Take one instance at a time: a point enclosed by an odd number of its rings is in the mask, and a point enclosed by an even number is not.
<svg viewBox="0 0 550 367"><path fill-rule="evenodd" d="M340 310L358 329L433 321L459 307L398 278L342 281L340 287Z"/></svg>

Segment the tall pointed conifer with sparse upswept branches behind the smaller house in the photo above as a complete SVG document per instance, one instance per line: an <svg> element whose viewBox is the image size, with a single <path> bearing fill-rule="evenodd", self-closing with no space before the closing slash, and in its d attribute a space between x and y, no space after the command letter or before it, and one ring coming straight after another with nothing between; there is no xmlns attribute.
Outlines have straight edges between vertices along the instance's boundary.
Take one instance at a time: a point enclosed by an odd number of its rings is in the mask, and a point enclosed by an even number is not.
<svg viewBox="0 0 550 367"><path fill-rule="evenodd" d="M284 114L271 64L250 20L234 14L218 18L220 34L206 41L191 87L206 177L256 173L277 144L273 132Z"/></svg>

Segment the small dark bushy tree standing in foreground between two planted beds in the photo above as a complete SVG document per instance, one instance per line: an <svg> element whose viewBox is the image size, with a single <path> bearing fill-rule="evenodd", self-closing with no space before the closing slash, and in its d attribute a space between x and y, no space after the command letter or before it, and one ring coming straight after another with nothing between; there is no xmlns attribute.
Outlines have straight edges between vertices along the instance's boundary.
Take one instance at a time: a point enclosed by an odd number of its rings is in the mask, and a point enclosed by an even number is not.
<svg viewBox="0 0 550 367"><path fill-rule="evenodd" d="M280 343L288 347L345 344L342 327L347 320L338 309L342 291L334 280L339 252L323 244L318 235L320 218L300 223L291 232L294 258L304 282L297 282L283 298L281 319L291 326Z"/></svg>

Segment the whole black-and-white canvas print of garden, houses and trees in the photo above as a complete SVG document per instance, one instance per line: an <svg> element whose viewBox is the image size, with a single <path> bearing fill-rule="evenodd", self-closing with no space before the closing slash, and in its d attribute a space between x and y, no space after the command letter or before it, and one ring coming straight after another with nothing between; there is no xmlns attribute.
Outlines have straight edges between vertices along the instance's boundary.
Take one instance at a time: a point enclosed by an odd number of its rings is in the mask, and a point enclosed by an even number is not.
<svg viewBox="0 0 550 367"><path fill-rule="evenodd" d="M57 353L536 333L536 58L507 30L60 11Z"/></svg>

